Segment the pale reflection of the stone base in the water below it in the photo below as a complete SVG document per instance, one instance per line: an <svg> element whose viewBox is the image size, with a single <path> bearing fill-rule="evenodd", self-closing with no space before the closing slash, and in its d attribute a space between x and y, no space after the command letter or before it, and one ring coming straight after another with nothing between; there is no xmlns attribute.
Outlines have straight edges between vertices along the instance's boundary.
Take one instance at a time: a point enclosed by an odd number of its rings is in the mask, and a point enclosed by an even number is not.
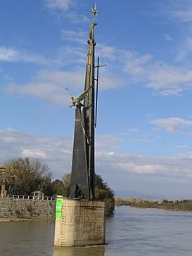
<svg viewBox="0 0 192 256"><path fill-rule="evenodd" d="M105 246L90 247L58 247L55 246L53 256L104 256Z"/></svg>

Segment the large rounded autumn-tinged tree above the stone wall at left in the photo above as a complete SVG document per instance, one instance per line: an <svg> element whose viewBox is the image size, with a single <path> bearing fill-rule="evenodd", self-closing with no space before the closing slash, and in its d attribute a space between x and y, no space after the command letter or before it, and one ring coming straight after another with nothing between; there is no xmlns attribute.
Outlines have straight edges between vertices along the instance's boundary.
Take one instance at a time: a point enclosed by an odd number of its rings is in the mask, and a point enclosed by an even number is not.
<svg viewBox="0 0 192 256"><path fill-rule="evenodd" d="M51 179L49 167L39 159L15 158L8 160L5 165L8 193L30 195L33 191L42 191L46 179Z"/></svg>

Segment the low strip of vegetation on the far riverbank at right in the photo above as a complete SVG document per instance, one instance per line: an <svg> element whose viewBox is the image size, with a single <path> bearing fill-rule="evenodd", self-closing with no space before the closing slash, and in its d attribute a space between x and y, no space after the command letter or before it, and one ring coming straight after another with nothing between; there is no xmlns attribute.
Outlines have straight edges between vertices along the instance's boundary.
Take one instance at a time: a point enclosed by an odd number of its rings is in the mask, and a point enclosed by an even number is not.
<svg viewBox="0 0 192 256"><path fill-rule="evenodd" d="M192 200L148 200L142 198L115 198L115 205L129 205L139 208L156 208L174 211L192 211Z"/></svg>

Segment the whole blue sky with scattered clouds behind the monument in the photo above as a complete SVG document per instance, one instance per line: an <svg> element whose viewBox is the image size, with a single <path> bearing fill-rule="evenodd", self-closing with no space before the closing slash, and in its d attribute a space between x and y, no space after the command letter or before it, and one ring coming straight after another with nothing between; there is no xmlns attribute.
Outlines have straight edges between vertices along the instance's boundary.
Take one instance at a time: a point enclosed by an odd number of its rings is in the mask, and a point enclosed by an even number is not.
<svg viewBox="0 0 192 256"><path fill-rule="evenodd" d="M0 0L0 162L70 172L94 0ZM96 173L116 195L192 197L192 0L97 0Z"/></svg>

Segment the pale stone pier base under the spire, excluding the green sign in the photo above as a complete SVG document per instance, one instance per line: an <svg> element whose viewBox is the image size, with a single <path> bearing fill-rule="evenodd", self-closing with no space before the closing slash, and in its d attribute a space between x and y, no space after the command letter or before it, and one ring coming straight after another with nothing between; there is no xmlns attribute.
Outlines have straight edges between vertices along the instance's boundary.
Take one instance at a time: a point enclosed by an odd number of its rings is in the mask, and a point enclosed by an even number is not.
<svg viewBox="0 0 192 256"><path fill-rule="evenodd" d="M62 217L56 218L54 245L85 246L105 243L105 203L63 199Z"/></svg>

